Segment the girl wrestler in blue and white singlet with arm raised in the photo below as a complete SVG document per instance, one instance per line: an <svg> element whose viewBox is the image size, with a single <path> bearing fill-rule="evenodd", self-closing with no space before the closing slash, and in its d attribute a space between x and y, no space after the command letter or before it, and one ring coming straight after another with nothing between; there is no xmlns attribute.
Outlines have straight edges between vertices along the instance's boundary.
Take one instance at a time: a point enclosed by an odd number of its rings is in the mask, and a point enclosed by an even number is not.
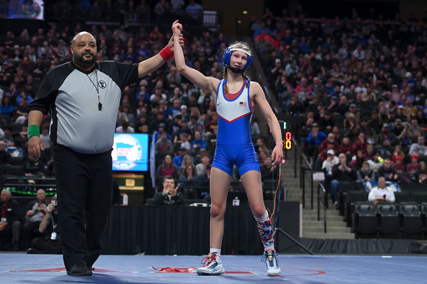
<svg viewBox="0 0 427 284"><path fill-rule="evenodd" d="M174 34L181 34L182 25L172 26ZM207 90L216 102L218 115L218 132L216 150L211 169L211 223L210 252L205 259L205 266L197 270L198 275L219 275L224 273L221 264L221 241L224 233L224 212L231 171L234 164L239 170L240 179L252 213L257 221L261 241L264 245L262 261L266 262L267 275L281 273L273 244L272 221L264 206L261 185L260 166L251 139L250 121L254 106L257 106L272 131L276 146L272 152L272 165L283 159L281 129L277 118L267 102L261 86L249 80L243 72L249 68L252 51L247 43L235 42L224 53L223 79L205 77L199 71L185 64L184 54L175 37L175 64L178 72L187 77L199 88ZM206 264L207 261L207 264Z"/></svg>

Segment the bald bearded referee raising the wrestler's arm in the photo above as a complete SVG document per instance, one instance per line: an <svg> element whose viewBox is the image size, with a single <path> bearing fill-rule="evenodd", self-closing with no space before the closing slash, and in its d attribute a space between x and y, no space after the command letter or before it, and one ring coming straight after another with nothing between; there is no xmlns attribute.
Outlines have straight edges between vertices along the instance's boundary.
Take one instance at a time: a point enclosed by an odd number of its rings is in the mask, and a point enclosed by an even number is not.
<svg viewBox="0 0 427 284"><path fill-rule="evenodd" d="M64 264L69 275L92 275L111 207L111 150L121 93L173 57L173 36L159 54L136 64L96 61L97 42L88 32L76 34L70 50L73 60L47 72L30 105L28 154L40 158L39 128L51 110Z"/></svg>

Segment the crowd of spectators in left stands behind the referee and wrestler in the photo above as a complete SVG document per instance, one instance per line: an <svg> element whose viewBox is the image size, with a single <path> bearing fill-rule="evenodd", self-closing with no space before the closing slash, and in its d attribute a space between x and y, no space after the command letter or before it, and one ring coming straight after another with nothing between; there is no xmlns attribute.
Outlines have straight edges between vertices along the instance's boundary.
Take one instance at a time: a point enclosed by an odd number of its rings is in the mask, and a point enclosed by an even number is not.
<svg viewBox="0 0 427 284"><path fill-rule="evenodd" d="M27 157L28 104L35 98L44 75L54 66L71 60L71 39L82 30L87 30L97 39L98 60L124 63L137 63L157 54L171 37L171 31L147 25L110 27L77 24L71 28L50 23L47 29L40 28L34 34L27 29L5 31L3 38L0 37L2 173L54 175L49 139L50 115L44 117L41 126L45 149L41 159L31 161ZM186 64L207 76L222 79L222 55L228 45L223 34L205 29L194 36L186 34L184 40ZM163 179L169 175L184 187L197 186L209 180L218 126L215 103L211 94L203 92L177 72L173 59L123 90L116 126L117 133L149 134L149 142L154 142L156 152L158 190L162 190ZM269 151L260 135L256 117L252 118L251 132L260 155L260 166L263 166L263 158L269 156ZM17 161L23 166L16 165ZM263 169L263 177L277 179L277 167ZM239 178L237 169L233 178ZM207 191L202 194L191 188L184 190L186 198L202 198L205 194Z"/></svg>

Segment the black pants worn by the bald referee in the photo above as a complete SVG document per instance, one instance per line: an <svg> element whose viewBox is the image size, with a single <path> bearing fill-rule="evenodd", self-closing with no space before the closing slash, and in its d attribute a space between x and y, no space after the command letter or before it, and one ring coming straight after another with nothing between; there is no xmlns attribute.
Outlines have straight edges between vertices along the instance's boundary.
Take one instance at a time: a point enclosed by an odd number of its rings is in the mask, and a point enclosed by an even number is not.
<svg viewBox="0 0 427 284"><path fill-rule="evenodd" d="M100 236L111 209L111 150L82 154L59 144L53 150L65 268L90 269L101 254Z"/></svg>

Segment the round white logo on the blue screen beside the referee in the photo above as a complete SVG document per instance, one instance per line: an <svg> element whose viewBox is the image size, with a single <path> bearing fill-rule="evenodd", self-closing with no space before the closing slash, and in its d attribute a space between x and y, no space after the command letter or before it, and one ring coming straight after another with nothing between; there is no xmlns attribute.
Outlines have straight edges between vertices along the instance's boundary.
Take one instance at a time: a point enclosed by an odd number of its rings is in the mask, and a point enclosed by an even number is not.
<svg viewBox="0 0 427 284"><path fill-rule="evenodd" d="M113 166L119 170L129 170L137 164L142 157L142 147L139 141L129 134L120 134L114 137Z"/></svg>

